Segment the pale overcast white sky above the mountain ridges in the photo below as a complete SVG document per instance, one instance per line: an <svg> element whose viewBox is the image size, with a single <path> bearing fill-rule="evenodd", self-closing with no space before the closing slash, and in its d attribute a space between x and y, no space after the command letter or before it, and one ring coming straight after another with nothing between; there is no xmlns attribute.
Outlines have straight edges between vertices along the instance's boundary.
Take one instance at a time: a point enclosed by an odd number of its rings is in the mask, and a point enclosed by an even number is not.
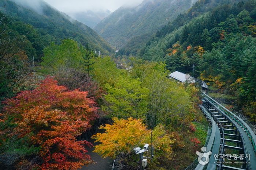
<svg viewBox="0 0 256 170"><path fill-rule="evenodd" d="M99 11L108 9L114 12L122 5L137 6L143 0L44 0L62 12L86 11L88 9Z"/></svg>

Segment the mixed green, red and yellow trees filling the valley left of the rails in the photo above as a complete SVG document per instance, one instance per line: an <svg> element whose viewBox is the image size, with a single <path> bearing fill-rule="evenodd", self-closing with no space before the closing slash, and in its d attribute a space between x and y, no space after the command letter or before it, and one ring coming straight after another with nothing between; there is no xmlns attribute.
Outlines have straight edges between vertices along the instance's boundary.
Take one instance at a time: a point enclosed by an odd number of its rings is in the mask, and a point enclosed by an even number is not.
<svg viewBox="0 0 256 170"><path fill-rule="evenodd" d="M27 60L25 51L16 46L20 44L22 42L12 48L7 46L10 51L1 58L1 66L5 66L3 61L7 59L12 62L6 65L14 64L12 69L18 68L15 64L27 68L26 72L15 74L24 75L23 81L15 84L24 90L1 102L1 169L75 170L92 163L85 148L92 144L78 139L99 117L120 124L119 132L107 135L107 140L104 134L94 136L109 142L96 147L104 157L109 156L110 144L122 146L122 150L111 148L114 153L111 155L121 161L120 169L126 169L127 165L130 169L138 167L137 155L130 148L149 143L151 130L155 139L155 157L150 165L153 169L170 169L177 152L188 151L188 148L199 150L197 138L205 136L196 135L192 122L202 119L196 107L199 90L167 79L168 70L163 63L133 59L132 69L118 69L110 57L99 57L90 47L64 39L60 45L52 42L45 48L41 69L31 72L29 64L20 63ZM43 80L38 80L38 74ZM8 79L2 84L13 81ZM115 123L106 126L112 129ZM145 135L146 140L140 140ZM109 138L114 136L121 138ZM195 157L192 151L177 159L176 166L181 169L188 166ZM183 158L189 161L182 163Z"/></svg>

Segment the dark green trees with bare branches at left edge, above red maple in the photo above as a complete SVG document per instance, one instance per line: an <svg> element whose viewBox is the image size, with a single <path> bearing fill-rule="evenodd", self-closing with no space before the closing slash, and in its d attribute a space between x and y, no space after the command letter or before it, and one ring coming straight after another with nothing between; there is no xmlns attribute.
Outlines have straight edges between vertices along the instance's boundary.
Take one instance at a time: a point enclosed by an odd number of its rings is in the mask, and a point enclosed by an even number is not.
<svg viewBox="0 0 256 170"><path fill-rule="evenodd" d="M0 11L0 101L15 94L15 87L31 72L24 51L25 35L10 28L16 15L13 11Z"/></svg>

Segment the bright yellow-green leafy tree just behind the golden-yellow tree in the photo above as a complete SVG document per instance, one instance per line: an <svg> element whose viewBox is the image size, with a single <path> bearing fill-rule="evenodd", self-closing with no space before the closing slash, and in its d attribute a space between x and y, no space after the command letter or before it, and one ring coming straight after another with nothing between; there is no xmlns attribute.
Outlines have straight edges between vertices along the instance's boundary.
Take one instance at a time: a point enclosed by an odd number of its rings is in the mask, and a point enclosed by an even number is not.
<svg viewBox="0 0 256 170"><path fill-rule="evenodd" d="M145 119L148 111L148 93L149 89L142 87L141 82L122 77L118 80L115 87L106 84L105 100L111 115L116 117L134 117Z"/></svg>

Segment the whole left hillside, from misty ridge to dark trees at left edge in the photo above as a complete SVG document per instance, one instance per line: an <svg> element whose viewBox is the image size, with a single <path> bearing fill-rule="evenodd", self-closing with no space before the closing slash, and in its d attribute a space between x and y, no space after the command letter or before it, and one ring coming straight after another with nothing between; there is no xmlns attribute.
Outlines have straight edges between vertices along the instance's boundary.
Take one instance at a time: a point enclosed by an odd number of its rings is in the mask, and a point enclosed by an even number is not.
<svg viewBox="0 0 256 170"><path fill-rule="evenodd" d="M15 4L13 1L0 0L1 15L1 47L0 53L10 57L18 54L20 63L4 59L0 78L0 98L14 95L21 86L18 82L26 77L30 65L40 65L44 56L43 49L51 42L59 45L64 39L73 39L82 46L90 46L96 54L107 55L113 52L112 47L88 26L73 20L71 23L63 13L53 9L44 1L39 2L41 11ZM35 9L34 9L35 10ZM67 15L66 15L67 16ZM37 64L38 63L38 64ZM18 67L18 68L17 68ZM13 72L13 69L16 69ZM14 91L13 91L14 90Z"/></svg>

